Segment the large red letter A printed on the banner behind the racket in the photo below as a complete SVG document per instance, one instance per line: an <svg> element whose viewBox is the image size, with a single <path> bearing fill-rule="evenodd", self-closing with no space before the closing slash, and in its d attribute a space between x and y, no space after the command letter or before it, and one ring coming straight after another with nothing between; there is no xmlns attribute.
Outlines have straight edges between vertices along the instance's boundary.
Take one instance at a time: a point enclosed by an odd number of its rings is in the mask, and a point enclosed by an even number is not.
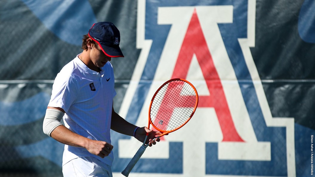
<svg viewBox="0 0 315 177"><path fill-rule="evenodd" d="M194 54L196 55L210 93L209 96L199 96L198 107L212 107L215 109L223 134L222 141L243 142L243 139L235 129L222 83L203 35L196 10L188 25L172 78L186 79Z"/></svg>

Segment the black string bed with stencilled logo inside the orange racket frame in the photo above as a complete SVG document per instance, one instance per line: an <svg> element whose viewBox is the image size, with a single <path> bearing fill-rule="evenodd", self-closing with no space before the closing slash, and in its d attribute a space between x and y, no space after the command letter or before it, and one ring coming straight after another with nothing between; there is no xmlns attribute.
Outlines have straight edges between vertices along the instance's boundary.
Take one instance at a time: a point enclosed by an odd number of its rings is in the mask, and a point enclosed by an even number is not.
<svg viewBox="0 0 315 177"><path fill-rule="evenodd" d="M173 80L165 84L152 101L152 123L164 131L180 127L191 117L196 99L195 90L185 81Z"/></svg>

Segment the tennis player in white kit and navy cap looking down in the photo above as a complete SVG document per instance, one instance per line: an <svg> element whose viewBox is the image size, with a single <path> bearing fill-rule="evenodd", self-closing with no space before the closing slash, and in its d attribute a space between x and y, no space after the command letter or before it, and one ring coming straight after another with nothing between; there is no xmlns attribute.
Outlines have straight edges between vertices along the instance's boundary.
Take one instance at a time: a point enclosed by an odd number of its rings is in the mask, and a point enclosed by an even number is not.
<svg viewBox="0 0 315 177"><path fill-rule="evenodd" d="M110 22L94 24L83 37L83 52L66 64L54 80L43 132L65 144L62 173L67 176L112 176L114 148L110 129L156 144L161 132L137 127L113 108L113 57L124 57L120 32ZM64 124L61 124L61 119Z"/></svg>

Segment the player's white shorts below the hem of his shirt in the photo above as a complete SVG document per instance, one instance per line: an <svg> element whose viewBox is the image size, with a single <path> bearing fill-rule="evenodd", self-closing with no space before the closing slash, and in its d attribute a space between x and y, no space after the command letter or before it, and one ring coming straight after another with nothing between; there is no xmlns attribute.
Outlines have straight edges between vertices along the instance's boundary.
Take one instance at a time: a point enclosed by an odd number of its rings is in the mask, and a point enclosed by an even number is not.
<svg viewBox="0 0 315 177"><path fill-rule="evenodd" d="M62 166L64 177L112 177L111 166L94 157L75 158Z"/></svg>

